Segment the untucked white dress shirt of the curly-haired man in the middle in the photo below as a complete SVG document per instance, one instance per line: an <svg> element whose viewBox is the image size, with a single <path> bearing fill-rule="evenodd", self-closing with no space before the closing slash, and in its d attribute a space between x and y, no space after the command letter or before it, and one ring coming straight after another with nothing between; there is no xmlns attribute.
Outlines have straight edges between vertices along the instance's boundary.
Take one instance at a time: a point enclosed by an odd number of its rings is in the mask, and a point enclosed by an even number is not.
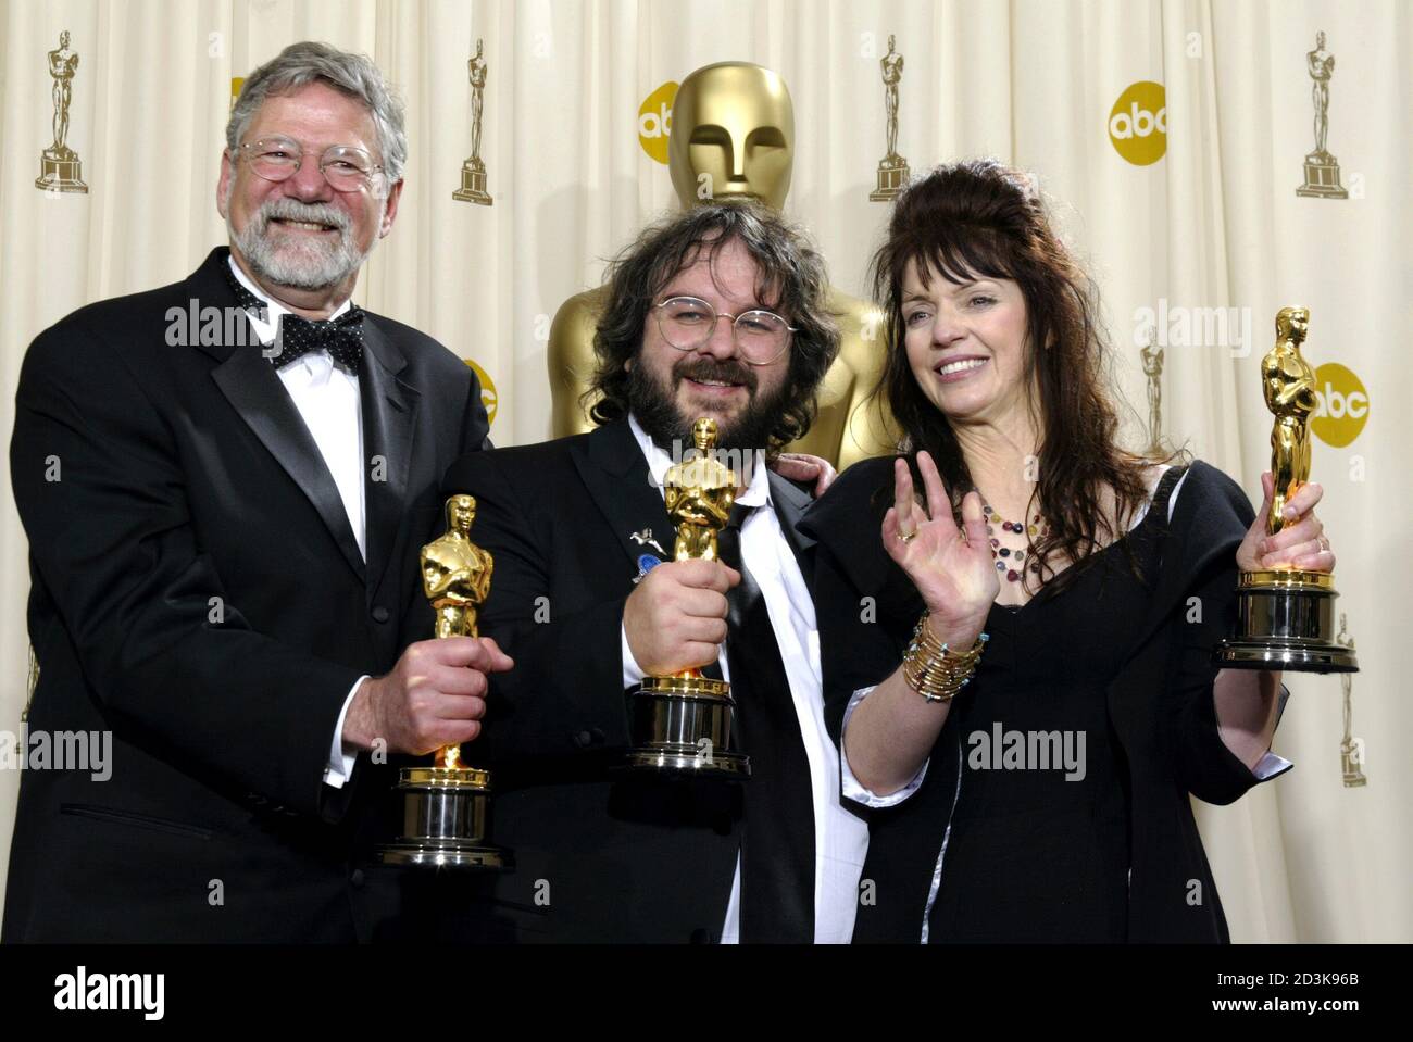
<svg viewBox="0 0 1413 1042"><path fill-rule="evenodd" d="M663 486L663 476L673 465L653 439L629 417L633 436L643 449L653 484ZM824 685L820 671L820 627L814 600L805 586L800 563L780 528L780 518L770 503L770 481L763 465L752 467L750 484L736 503L757 507L740 527L740 559L760 587L774 630L776 645L790 682L800 736L810 761L810 789L814 802L814 940L821 945L846 945L853 936L853 916L859 904L859 874L869 847L868 823L846 810L839 799L839 750L824 726ZM639 683L646 675L623 641L623 686ZM726 647L721 651L722 678L731 681ZM749 753L749 750L746 750ZM750 782L746 782L747 786ZM747 796L747 813L749 813ZM740 854L736 878L731 887L722 926L722 943L740 939Z"/></svg>

